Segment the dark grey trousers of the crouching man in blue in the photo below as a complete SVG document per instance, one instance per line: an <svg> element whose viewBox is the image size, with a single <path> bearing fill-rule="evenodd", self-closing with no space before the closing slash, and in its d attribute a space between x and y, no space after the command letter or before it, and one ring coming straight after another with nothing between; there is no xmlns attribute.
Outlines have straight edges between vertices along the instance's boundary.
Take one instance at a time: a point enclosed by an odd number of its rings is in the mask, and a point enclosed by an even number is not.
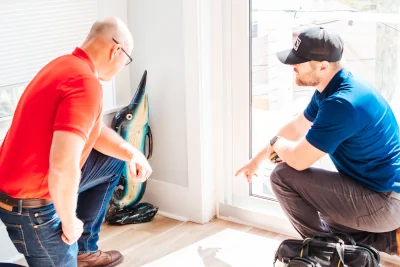
<svg viewBox="0 0 400 267"><path fill-rule="evenodd" d="M378 251L397 254L400 200L391 192L372 191L338 172L318 168L296 171L286 163L275 167L271 186L303 238L341 232Z"/></svg>

